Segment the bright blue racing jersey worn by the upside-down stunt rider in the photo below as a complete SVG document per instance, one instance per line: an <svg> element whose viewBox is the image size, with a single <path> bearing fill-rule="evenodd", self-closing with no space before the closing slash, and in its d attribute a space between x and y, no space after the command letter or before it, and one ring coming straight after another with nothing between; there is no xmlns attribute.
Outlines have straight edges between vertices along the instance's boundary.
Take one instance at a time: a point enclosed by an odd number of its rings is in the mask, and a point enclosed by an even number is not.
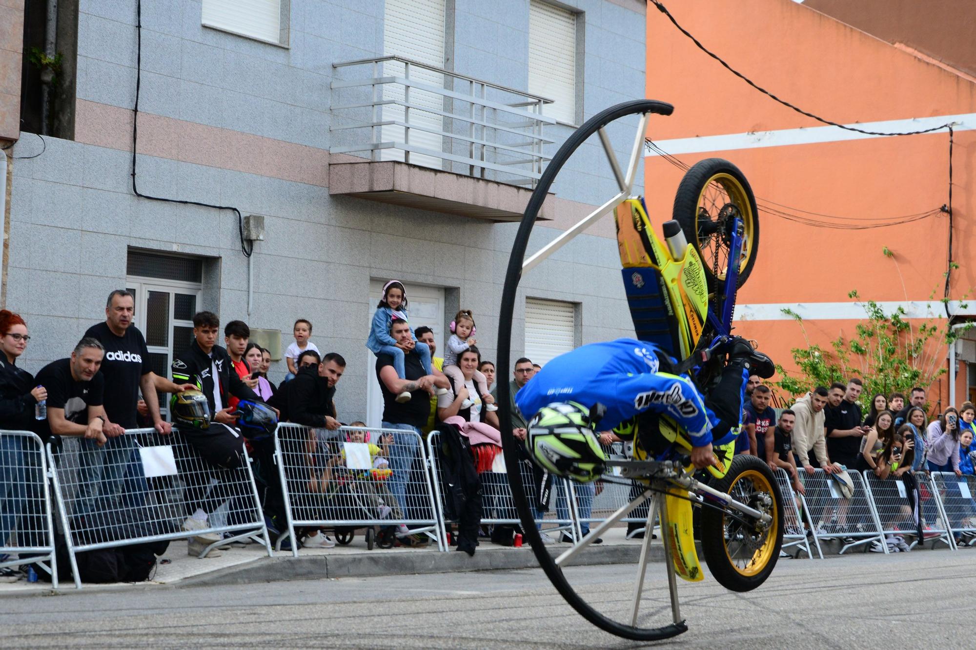
<svg viewBox="0 0 976 650"><path fill-rule="evenodd" d="M737 423L718 440L712 427L718 417L686 375L661 372L656 345L635 339L583 345L549 361L515 396L526 420L551 402L575 401L590 408L599 402L606 415L600 430L610 430L633 416L654 411L671 417L688 431L692 444L724 444L738 434ZM671 361L673 363L673 360ZM745 392L746 378L743 380ZM742 412L740 399L739 412Z"/></svg>

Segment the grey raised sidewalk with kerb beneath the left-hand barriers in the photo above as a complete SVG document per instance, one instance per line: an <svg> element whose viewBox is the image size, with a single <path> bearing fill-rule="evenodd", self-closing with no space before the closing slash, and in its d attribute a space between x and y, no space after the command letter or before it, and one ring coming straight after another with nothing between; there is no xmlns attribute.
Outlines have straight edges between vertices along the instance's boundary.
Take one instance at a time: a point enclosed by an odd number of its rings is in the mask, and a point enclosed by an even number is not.
<svg viewBox="0 0 976 650"><path fill-rule="evenodd" d="M626 529L613 528L603 535L603 544L593 545L581 553L576 564L619 564L635 562L640 552L640 540L627 540ZM568 544L551 545L554 553L569 548ZM252 544L244 548L229 548L220 557L203 559L186 554L186 542L177 540L159 558L152 580L145 586L240 585L286 580L318 580L353 576L394 574L443 573L448 571L487 571L494 569L524 569L538 566L528 543L522 548L502 547L486 539L473 556L451 550L440 552L431 540L426 548L374 548L368 550L362 531L356 531L348 546L336 548L301 548L299 556L291 551L275 551L268 557L264 547ZM651 544L651 560L664 559L660 540ZM115 585L84 585L84 589L118 589L131 583ZM71 581L62 581L59 590L74 589ZM0 583L0 597L51 593L50 583Z"/></svg>

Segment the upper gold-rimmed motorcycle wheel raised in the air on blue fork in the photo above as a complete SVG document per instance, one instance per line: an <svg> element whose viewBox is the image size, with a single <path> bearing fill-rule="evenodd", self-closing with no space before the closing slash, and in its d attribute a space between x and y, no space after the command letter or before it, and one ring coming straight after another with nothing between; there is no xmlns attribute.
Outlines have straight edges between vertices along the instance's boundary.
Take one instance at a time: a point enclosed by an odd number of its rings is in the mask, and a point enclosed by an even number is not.
<svg viewBox="0 0 976 650"><path fill-rule="evenodd" d="M674 194L672 219L681 224L685 238L702 256L712 292L725 280L732 244L732 223L743 224L739 256L741 287L749 279L759 249L759 222L752 187L739 168L728 160L708 158L689 169Z"/></svg>

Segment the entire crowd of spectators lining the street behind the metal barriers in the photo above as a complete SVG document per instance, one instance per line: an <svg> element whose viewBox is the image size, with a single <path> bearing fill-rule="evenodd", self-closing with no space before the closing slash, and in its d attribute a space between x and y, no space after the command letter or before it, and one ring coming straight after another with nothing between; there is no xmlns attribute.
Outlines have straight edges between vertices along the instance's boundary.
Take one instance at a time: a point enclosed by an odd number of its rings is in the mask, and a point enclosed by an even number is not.
<svg viewBox="0 0 976 650"><path fill-rule="evenodd" d="M383 394L381 426L390 431L375 439L369 437L370 432L362 423L352 423L360 429L340 429L344 420L337 408L337 386L346 370L346 360L338 352L321 353L311 341L310 321L295 321L295 341L284 355L288 374L280 386L275 386L267 376L271 352L250 341L246 323L231 320L222 328L216 314L198 312L192 319L193 340L174 355L171 377L167 378L152 369L145 339L133 324L134 297L125 290L111 292L105 305L105 320L89 328L67 357L48 364L36 377L17 365L30 340L26 323L16 313L0 311L0 428L33 431L56 447L61 437L79 439L83 452L79 454L78 467L80 494L71 516L83 525L86 517L117 508L122 495L146 491L144 476L127 470L139 454L134 437L124 433L145 427L159 435L171 434L172 425L163 418L160 396L186 391L202 393L200 399L208 405L209 426L205 430L181 427L187 443L212 465L231 469L243 467L246 450L257 461L259 473L276 471L273 444L242 431L238 419L243 406L264 404L280 422L305 427L302 430L306 432L297 441L304 459L303 490L330 494L341 482L336 470L347 463L346 443L365 445L372 470L382 470L374 475L384 478L382 483L363 487L367 506L378 512L377 516L390 518L389 529L395 529L396 543L423 546L428 542L427 535L415 534L409 527L392 522L409 519L416 507L411 502L411 474L418 471L420 445L427 433L445 425L458 427L478 445L489 449L487 456L477 456L479 469L485 470L501 451L498 388L493 389L496 380L508 381L512 434L523 440L526 422L514 408L514 397L540 366L523 357L515 362L510 379L497 378L495 364L481 358L474 314L468 309L458 311L449 328L445 353L437 356L433 331L411 327L408 305L403 284L396 280L387 282L366 341L376 355L376 378ZM219 344L222 331L224 345ZM777 414L770 407L770 388L758 377L751 377L736 453L758 456L774 470L783 469L790 476L793 490L800 495L806 490L805 476L812 476L818 467L831 474L855 469L873 471L879 479L893 477L905 481L911 489L917 489L913 483L916 471L973 473L976 408L971 403L965 402L957 410L947 408L929 422L923 410L925 391L916 387L908 404L900 393L874 395L865 415L859 405L862 388L857 378L847 384L817 386ZM40 410L42 405L46 413ZM604 444L619 440L609 431L600 433ZM36 497L23 485L25 472L32 469L31 463L36 463L31 458L19 440L0 438L0 546L15 531L19 508ZM482 462L486 458L487 466ZM528 471L540 473L531 464L527 467ZM550 478L536 478L542 481L537 491L549 493L543 482ZM285 528L280 482L270 473L259 479L264 485L261 498L265 522L272 534L279 535ZM190 483L185 486L182 524L186 533L193 534L188 551L194 555L204 551L209 556L220 554L223 538L214 532L211 516L222 502L239 495L228 497L214 490L210 479ZM593 484L578 489L582 518L589 517L598 489ZM557 516L569 518L568 495L555 489L551 492ZM215 498L216 493L221 498ZM541 518L549 504L536 501ZM489 500L485 508L490 511L504 507ZM842 512L838 518L843 518ZM920 536L923 533L917 508L915 522ZM36 528L39 530L40 526ZM481 532L498 543L511 544L516 530L512 526L496 526ZM632 526L629 532L637 533ZM586 524L583 533L588 533ZM333 530L307 528L301 531L300 539L288 543L328 548L336 544L334 535ZM556 541L549 535L543 535L543 539L547 543ZM570 541L570 536L562 533L560 541ZM905 546L900 537L887 542L892 549ZM957 543L976 546L976 536L962 534ZM473 553L476 545L476 539L468 539L459 542L459 549ZM0 577L17 575L12 569L0 569Z"/></svg>

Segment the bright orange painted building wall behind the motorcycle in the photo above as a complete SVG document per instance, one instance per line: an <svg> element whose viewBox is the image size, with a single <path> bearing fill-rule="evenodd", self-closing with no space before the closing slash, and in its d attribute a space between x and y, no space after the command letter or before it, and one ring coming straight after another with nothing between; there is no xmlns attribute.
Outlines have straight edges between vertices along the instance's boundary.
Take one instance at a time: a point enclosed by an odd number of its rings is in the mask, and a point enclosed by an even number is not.
<svg viewBox="0 0 976 650"><path fill-rule="evenodd" d="M976 84L792 0L665 0L674 18L706 47L760 86L839 122L874 122L976 112ZM961 17L960 17L961 18ZM976 6L974 6L976 18ZM655 142L823 126L774 102L696 48L658 11L647 15L646 96L674 104L655 117ZM662 145L667 150L667 145ZM954 271L951 297L976 286L976 131L956 133ZM824 142L677 156L687 164L728 158L763 199L829 215L892 218L948 202L949 136ZM645 161L648 208L671 215L682 172L661 157ZM760 252L740 304L850 302L857 289L875 301L941 298L948 217L884 228L837 230L793 223L760 212ZM894 259L882 255L882 248ZM899 275L900 272L900 275ZM853 321L807 322L826 344L853 333ZM737 333L760 342L784 363L802 344L793 321L739 321ZM960 371L958 398L965 394ZM935 386L933 386L934 388ZM947 390L948 395L948 390Z"/></svg>

